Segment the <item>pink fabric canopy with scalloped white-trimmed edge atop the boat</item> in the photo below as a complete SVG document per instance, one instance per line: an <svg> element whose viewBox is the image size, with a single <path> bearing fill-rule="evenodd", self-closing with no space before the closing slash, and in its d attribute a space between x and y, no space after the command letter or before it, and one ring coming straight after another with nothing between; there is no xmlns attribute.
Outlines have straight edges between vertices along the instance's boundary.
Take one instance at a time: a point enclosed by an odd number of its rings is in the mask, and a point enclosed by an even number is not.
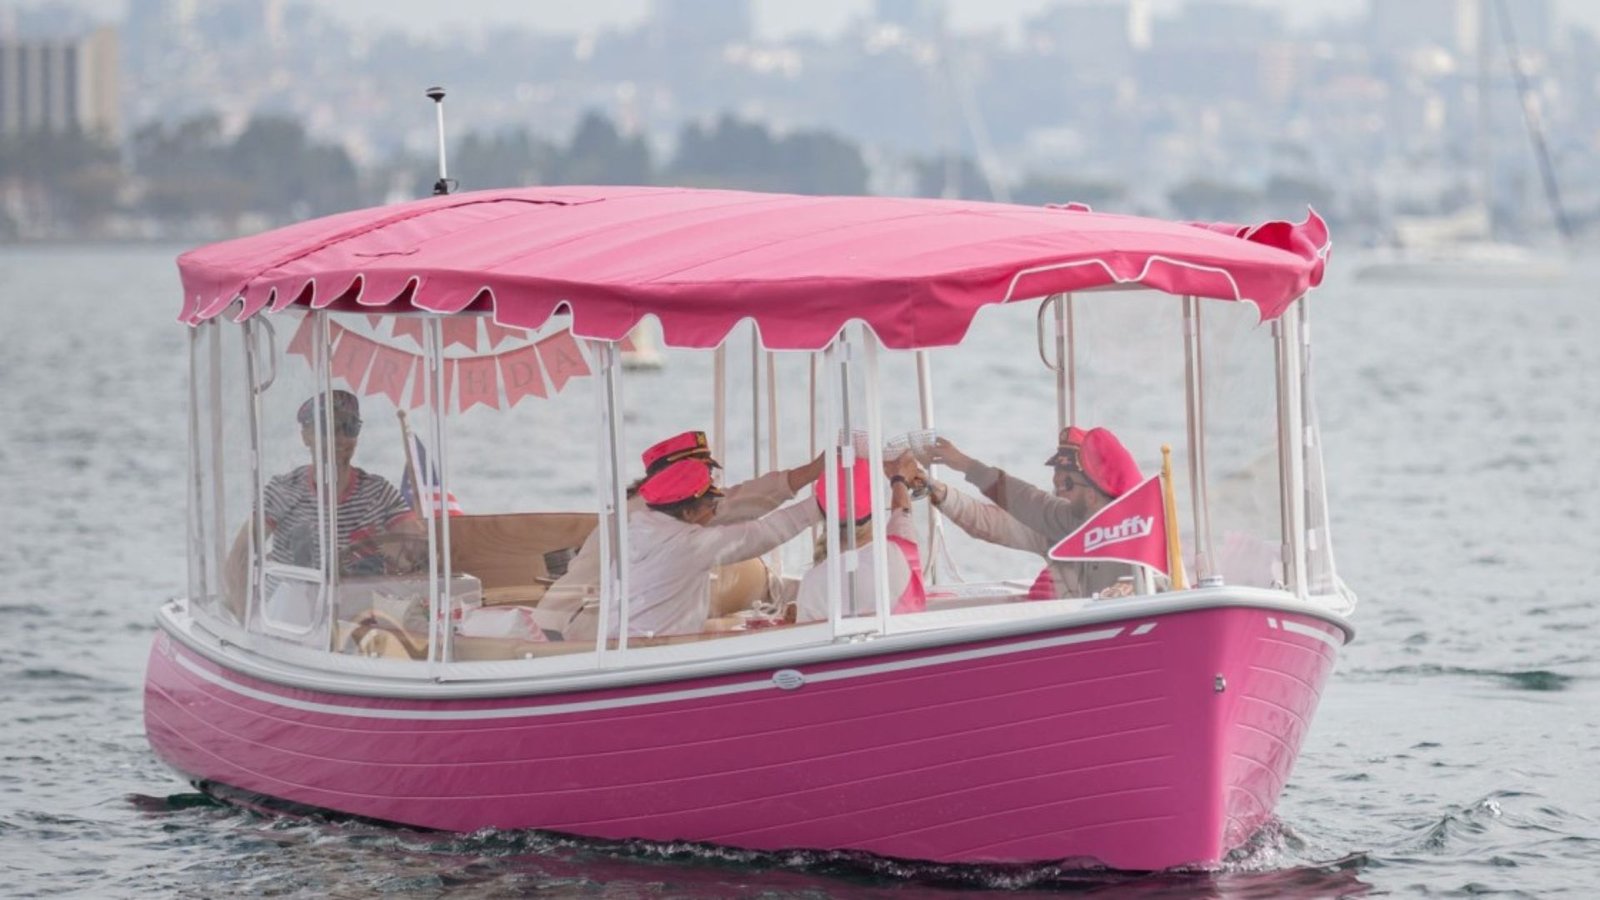
<svg viewBox="0 0 1600 900"><path fill-rule="evenodd" d="M850 320L894 349L955 344L981 306L1107 285L1250 301L1322 282L1328 231L1184 224L1067 207L672 187L525 187L326 216L184 253L181 320L291 304L491 311L621 340L643 315L710 348L754 319L771 349Z"/></svg>

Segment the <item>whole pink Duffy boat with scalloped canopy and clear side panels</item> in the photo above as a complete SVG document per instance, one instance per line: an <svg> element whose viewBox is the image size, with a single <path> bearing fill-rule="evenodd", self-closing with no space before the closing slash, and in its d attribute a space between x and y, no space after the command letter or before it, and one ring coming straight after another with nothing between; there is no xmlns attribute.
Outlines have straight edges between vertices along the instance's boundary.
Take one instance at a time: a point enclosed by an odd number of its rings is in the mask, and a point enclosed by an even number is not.
<svg viewBox="0 0 1600 900"><path fill-rule="evenodd" d="M1352 636L1306 340L1326 247L1315 216L533 187L186 253L190 586L150 745L219 796L419 828L1216 865ZM640 327L662 368L626 373ZM626 485L702 423L712 527L771 540L651 625L664 506ZM1162 474L1107 490L1090 424ZM1072 533L1016 500L1051 452L1058 493L1109 496ZM806 487L898 464L848 512Z"/></svg>

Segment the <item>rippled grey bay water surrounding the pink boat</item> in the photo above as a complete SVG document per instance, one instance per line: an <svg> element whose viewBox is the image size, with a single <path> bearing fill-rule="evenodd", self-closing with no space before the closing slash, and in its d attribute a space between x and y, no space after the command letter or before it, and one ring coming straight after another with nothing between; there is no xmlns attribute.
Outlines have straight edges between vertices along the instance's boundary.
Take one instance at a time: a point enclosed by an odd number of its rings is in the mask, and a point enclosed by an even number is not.
<svg viewBox="0 0 1600 900"><path fill-rule="evenodd" d="M0 884L18 897L1587 897L1600 858L1600 304L1317 295L1358 641L1280 823L1221 873L418 834L194 794L144 741L152 615L184 583L178 248L0 248ZM1594 283L1592 279L1587 280Z"/></svg>

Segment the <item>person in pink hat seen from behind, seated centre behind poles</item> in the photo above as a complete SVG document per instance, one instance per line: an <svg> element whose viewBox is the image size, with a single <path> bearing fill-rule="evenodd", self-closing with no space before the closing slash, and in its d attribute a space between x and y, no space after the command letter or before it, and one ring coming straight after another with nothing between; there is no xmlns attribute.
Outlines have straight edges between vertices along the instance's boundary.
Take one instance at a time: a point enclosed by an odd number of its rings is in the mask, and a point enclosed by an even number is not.
<svg viewBox="0 0 1600 900"><path fill-rule="evenodd" d="M829 506L837 509L840 519L840 535L838 546L850 546L851 536L854 536L854 546L859 551L859 564L854 572L845 573L848 580L845 589L845 609L843 615L870 615L877 604L874 602L874 594L877 593L877 562L872 552L872 469L866 461L859 461L853 469L853 474L846 474L845 468L838 469L838 492L835 501L829 503L829 493L826 477L819 476L816 479L816 503L826 512ZM853 496L853 508L856 519L850 522L850 512L846 511L845 498ZM894 474L890 477L890 519L885 522L885 532L888 535L888 552L885 559L888 560L888 586L890 596L894 601L890 604L890 612L922 612L928 607L928 594L922 585L922 557L917 551L917 527L910 520L910 484L906 476ZM827 618L827 567L822 565L827 554L827 543L818 541L818 557L805 578L800 580L800 589L795 594L795 621L819 621Z"/></svg>

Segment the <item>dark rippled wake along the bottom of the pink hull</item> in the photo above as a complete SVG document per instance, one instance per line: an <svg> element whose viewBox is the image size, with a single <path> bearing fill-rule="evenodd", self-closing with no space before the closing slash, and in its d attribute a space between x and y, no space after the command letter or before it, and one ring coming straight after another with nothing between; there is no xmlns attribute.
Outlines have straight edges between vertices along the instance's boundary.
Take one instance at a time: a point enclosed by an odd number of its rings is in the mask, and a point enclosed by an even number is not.
<svg viewBox="0 0 1600 900"><path fill-rule="evenodd" d="M470 834L418 831L326 810L285 812L267 804L218 799L206 793L165 798L130 794L128 802L150 815L182 815L194 809L234 809L235 825L258 831L266 825L272 842L296 846L330 865L302 860L333 874L349 868L350 854L379 852L397 870L450 873L458 889L496 890L522 886L570 889L642 882L672 886L693 895L722 895L733 886L763 887L768 895L814 897L818 889L850 890L851 897L907 889L1072 892L1139 898L1269 898L1362 897L1370 886L1358 879L1365 854L1331 862L1307 858L1309 846L1274 820L1219 866L1158 873L1109 870L1093 860L1040 865L952 865L875 857L843 850L758 852L683 841L600 841L549 831L480 830ZM339 865L331 865L339 862ZM832 887L829 887L832 886ZM824 894L827 895L827 894Z"/></svg>

